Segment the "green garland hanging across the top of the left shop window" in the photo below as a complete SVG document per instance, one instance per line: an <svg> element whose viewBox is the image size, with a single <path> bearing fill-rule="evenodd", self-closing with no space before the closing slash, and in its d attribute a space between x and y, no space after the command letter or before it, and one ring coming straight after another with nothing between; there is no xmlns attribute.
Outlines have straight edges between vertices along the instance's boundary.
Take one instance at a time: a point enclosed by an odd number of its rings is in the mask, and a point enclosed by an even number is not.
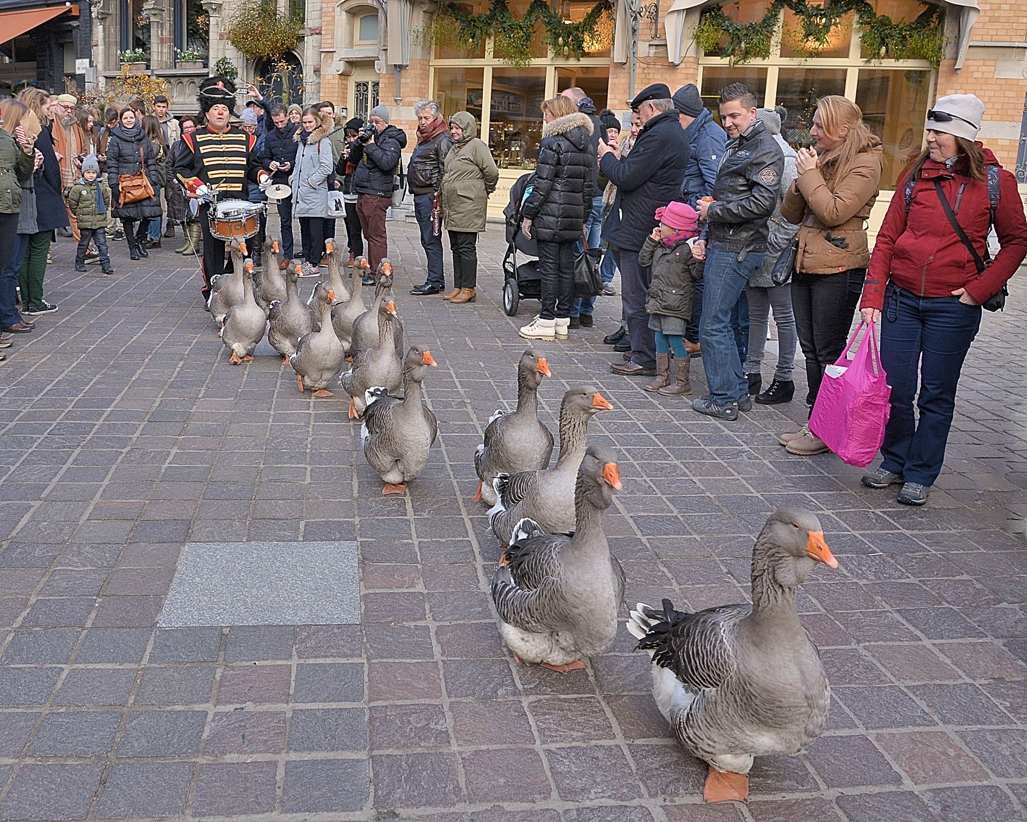
<svg viewBox="0 0 1027 822"><path fill-rule="evenodd" d="M444 3L439 13L419 33L431 45L455 45L477 51L489 37L511 66L531 63L531 38L541 23L543 39L556 54L581 58L589 43L604 37L604 21L613 21L613 0L598 0L577 23L566 23L545 0L532 0L524 16L510 13L506 0L491 0L485 14L472 14L458 3Z"/></svg>

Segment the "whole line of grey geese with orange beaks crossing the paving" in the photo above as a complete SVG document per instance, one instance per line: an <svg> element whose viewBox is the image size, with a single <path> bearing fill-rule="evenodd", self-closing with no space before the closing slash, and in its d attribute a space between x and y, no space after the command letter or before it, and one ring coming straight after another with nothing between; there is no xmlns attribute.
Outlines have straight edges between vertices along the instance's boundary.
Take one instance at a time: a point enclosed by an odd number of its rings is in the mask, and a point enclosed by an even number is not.
<svg viewBox="0 0 1027 822"><path fill-rule="evenodd" d="M208 307L222 323L230 362L252 360L266 328L300 391L331 397L328 385L339 377L349 417L363 421L364 453L384 482L382 493L403 493L438 434L422 385L435 361L421 345L402 356L404 325L388 260L375 272L369 308L360 294L367 261L351 267L347 287L337 246L326 245L327 270L304 303L298 267L282 276L274 265L274 240L256 284L244 247L234 244L233 273L216 278ZM490 527L502 548L491 595L503 643L518 663L567 673L585 668L582 658L608 650L616 637L625 581L604 518L622 483L612 450L587 442L592 417L613 408L592 386L564 394L560 452L549 466L554 437L538 419L538 389L549 376L538 351L521 356L517 408L490 417L474 452L473 499L491 506ZM709 764L707 801L745 800L755 756L797 754L827 725L830 686L795 604L817 563L838 567L815 515L782 510L767 518L753 548L752 605L692 613L663 599L659 607L630 609L626 629L650 657L657 708L678 742Z"/></svg>

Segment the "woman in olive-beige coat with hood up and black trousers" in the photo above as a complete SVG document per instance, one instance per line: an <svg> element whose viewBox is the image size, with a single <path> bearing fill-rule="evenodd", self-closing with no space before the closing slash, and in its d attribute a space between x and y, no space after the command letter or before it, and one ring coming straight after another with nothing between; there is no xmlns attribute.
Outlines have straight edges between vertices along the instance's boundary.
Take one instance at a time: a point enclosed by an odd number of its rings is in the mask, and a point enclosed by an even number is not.
<svg viewBox="0 0 1027 822"><path fill-rule="evenodd" d="M453 252L453 291L443 299L473 302L478 285L478 235L485 230L489 194L496 190L499 170L489 147L474 137L474 116L458 111L449 119L453 148L446 155L440 190L443 220Z"/></svg>

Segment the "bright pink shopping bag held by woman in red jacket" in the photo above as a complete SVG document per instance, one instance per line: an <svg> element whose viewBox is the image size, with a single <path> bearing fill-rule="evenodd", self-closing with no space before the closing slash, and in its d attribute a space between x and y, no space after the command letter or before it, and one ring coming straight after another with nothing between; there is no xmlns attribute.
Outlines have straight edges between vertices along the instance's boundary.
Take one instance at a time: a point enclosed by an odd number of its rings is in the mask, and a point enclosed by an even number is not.
<svg viewBox="0 0 1027 822"><path fill-rule="evenodd" d="M867 333L855 356L849 349L860 331ZM833 366L828 366L809 417L809 429L843 462L866 468L884 442L891 406L891 386L881 367L874 324L861 323Z"/></svg>

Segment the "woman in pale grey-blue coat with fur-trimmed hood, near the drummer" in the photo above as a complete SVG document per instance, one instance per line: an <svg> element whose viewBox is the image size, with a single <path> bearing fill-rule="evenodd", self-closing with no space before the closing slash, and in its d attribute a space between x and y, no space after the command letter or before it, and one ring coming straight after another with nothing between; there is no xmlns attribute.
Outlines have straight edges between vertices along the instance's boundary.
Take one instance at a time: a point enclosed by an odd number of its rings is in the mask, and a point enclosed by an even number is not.
<svg viewBox="0 0 1027 822"><path fill-rule="evenodd" d="M325 255L328 177L333 169L331 133L332 118L311 106L303 112L294 138L299 148L289 185L293 188L293 214L300 219L303 276L319 274Z"/></svg>

